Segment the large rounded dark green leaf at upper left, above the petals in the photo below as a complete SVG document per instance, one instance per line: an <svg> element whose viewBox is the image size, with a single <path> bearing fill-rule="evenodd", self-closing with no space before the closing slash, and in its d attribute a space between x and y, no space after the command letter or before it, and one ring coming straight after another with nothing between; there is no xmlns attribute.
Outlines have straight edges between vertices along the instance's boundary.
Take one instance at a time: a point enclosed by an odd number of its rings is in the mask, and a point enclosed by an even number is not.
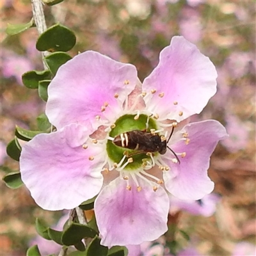
<svg viewBox="0 0 256 256"><path fill-rule="evenodd" d="M67 52L76 44L75 34L65 26L55 24L42 33L37 42L38 51L63 51Z"/></svg>

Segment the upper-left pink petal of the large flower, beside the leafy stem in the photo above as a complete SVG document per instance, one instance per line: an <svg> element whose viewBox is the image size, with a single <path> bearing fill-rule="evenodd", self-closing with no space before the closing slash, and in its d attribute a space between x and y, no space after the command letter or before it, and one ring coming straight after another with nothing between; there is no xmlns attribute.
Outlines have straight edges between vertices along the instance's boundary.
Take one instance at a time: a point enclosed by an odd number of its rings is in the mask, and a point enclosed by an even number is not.
<svg viewBox="0 0 256 256"><path fill-rule="evenodd" d="M83 52L62 65L49 84L46 115L57 129L77 123L93 132L100 125L95 116L103 120L113 118L113 110L120 110L136 79L137 70L133 65L112 60L99 52ZM102 107L106 111L102 112Z"/></svg>

